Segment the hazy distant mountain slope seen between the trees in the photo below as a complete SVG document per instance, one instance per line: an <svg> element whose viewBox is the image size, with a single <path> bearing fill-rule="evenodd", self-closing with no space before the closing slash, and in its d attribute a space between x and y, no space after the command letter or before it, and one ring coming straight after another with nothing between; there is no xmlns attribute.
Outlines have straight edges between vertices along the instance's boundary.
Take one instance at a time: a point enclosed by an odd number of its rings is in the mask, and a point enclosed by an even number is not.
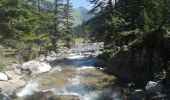
<svg viewBox="0 0 170 100"><path fill-rule="evenodd" d="M83 21L87 21L94 16L92 14L88 14L88 12L89 10L84 7L74 8L72 12L74 26L81 25Z"/></svg>

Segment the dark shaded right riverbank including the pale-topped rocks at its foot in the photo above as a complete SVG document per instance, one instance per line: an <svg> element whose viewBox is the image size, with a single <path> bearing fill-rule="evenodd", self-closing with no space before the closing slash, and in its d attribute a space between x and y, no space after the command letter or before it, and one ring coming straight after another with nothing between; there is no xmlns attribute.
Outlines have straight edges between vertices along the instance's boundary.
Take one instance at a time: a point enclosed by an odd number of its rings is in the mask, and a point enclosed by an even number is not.
<svg viewBox="0 0 170 100"><path fill-rule="evenodd" d="M169 40L164 29L150 31L112 53L106 69L118 78L141 86L132 93L136 99L169 99Z"/></svg>

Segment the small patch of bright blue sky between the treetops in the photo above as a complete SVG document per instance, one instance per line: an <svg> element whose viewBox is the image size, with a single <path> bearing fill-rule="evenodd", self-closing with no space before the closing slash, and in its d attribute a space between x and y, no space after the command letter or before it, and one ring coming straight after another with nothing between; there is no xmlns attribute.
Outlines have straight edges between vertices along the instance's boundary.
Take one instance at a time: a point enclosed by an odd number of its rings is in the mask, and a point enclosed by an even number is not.
<svg viewBox="0 0 170 100"><path fill-rule="evenodd" d="M89 8L88 0L70 0L74 8L85 7Z"/></svg>

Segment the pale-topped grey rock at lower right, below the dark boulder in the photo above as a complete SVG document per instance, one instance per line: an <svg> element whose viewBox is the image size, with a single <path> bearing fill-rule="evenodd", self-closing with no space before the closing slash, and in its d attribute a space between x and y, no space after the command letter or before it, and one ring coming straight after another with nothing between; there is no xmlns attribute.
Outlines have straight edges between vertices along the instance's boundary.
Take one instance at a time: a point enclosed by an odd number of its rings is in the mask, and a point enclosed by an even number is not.
<svg viewBox="0 0 170 100"><path fill-rule="evenodd" d="M161 91L163 90L163 85L157 82L149 81L145 89L149 93L157 94L157 93L161 93Z"/></svg>

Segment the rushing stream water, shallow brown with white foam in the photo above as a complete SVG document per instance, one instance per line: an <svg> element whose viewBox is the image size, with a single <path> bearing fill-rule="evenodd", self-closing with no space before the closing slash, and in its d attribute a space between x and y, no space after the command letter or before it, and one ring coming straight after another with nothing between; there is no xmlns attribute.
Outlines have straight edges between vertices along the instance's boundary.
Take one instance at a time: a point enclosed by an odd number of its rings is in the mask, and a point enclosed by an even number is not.
<svg viewBox="0 0 170 100"><path fill-rule="evenodd" d="M96 69L95 61L96 58L80 53L51 62L54 66L51 72L31 78L17 96L23 98L51 90L55 95L77 95L80 100L121 100L120 92L112 88L115 77Z"/></svg>

